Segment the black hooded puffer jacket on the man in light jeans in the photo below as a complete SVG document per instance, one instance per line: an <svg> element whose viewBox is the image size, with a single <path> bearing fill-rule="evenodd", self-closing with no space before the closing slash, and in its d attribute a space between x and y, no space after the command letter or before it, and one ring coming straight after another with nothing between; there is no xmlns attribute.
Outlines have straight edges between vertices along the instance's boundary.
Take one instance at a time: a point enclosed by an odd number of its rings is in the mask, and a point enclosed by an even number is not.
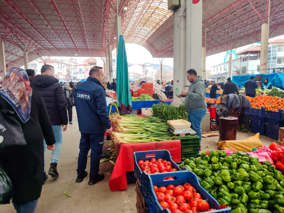
<svg viewBox="0 0 284 213"><path fill-rule="evenodd" d="M52 125L68 124L67 103L57 78L36 75L30 81L30 87L40 91Z"/></svg>

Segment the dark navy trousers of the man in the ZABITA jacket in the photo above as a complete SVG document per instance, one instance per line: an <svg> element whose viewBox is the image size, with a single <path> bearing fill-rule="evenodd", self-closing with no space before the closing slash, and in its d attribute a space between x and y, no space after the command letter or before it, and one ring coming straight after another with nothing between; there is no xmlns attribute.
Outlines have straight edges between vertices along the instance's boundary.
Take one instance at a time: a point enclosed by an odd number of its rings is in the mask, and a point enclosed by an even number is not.
<svg viewBox="0 0 284 213"><path fill-rule="evenodd" d="M87 166L87 156L91 149L90 177L99 173L101 155L104 146L105 133L88 134L81 132L81 141L79 144L78 174L83 174Z"/></svg>

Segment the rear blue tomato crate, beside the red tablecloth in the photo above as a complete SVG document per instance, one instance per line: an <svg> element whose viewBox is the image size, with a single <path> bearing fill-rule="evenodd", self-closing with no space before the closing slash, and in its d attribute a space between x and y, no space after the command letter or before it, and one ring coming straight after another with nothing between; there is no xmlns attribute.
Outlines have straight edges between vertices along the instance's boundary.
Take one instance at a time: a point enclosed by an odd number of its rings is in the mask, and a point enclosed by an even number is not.
<svg viewBox="0 0 284 213"><path fill-rule="evenodd" d="M151 160L152 158L158 159L162 158L163 160L168 160L172 163L172 167L177 169L178 171L187 171L187 168L179 168L178 164L176 164L172 158L171 154L168 150L152 150L152 151L142 151L142 152L134 152L134 172L143 188L143 193L146 197L149 197L150 195L150 180L149 175L156 175L156 174L146 174L145 172L142 172L140 167L138 166L139 160ZM167 172L168 173L168 172Z"/></svg>

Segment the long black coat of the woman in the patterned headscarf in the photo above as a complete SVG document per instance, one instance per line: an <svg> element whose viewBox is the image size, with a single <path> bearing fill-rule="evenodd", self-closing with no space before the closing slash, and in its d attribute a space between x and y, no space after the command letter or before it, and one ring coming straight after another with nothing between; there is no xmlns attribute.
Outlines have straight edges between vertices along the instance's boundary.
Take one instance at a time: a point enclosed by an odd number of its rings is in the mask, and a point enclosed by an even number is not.
<svg viewBox="0 0 284 213"><path fill-rule="evenodd" d="M2 96L0 108L15 111ZM40 197L44 169L43 136L47 145L55 144L55 137L38 91L32 91L30 119L23 123L16 113L14 116L22 126L27 145L0 149L0 163L12 180L13 201L21 205Z"/></svg>

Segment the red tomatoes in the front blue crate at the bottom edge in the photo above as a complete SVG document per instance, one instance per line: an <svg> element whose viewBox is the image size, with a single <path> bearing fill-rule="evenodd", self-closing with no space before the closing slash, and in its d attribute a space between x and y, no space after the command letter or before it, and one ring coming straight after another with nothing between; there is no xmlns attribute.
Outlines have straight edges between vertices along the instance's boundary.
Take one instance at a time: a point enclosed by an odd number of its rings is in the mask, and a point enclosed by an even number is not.
<svg viewBox="0 0 284 213"><path fill-rule="evenodd" d="M168 185L168 187L153 186L153 188L162 208L168 208L171 213L197 213L216 210L210 208L209 203L201 198L201 195L190 183L176 187Z"/></svg>

